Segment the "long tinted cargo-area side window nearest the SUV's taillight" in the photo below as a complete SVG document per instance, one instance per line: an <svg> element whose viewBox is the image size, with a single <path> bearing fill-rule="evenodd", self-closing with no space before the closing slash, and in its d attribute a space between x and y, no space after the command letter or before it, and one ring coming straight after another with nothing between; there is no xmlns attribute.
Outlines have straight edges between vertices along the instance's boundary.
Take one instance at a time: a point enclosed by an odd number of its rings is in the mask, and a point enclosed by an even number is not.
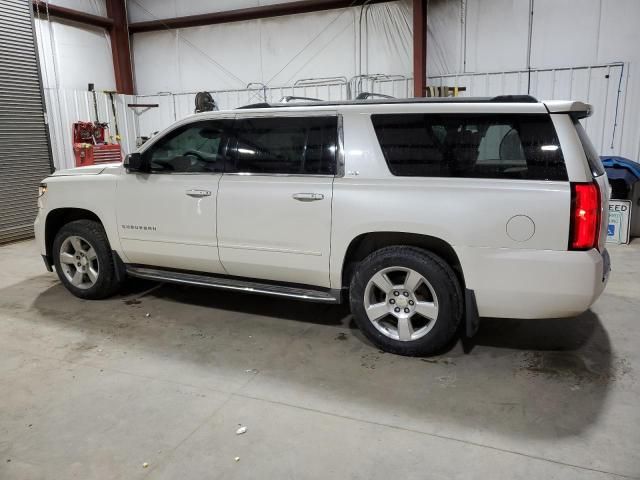
<svg viewBox="0 0 640 480"><path fill-rule="evenodd" d="M546 114L372 115L392 174L567 180Z"/></svg>

